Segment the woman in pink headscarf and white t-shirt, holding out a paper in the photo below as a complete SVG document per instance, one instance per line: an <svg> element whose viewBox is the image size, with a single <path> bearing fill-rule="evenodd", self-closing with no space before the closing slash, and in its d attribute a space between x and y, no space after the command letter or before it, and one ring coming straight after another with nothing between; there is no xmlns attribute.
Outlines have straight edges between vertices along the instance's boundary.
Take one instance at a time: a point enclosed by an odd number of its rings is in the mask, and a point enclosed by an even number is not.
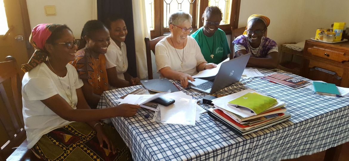
<svg viewBox="0 0 349 161"><path fill-rule="evenodd" d="M39 24L32 30L30 43L37 50L22 65L28 148L44 160L126 160L129 153L121 153L126 145L117 131L99 120L133 116L140 106L90 109L81 89L83 82L68 64L75 59L79 41L66 25Z"/></svg>

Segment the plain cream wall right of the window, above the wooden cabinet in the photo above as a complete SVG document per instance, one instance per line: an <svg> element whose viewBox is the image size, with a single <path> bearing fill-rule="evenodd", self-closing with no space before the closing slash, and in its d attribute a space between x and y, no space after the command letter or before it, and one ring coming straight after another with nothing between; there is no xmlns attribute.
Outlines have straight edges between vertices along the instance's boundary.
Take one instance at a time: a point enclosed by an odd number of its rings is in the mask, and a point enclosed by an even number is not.
<svg viewBox="0 0 349 161"><path fill-rule="evenodd" d="M348 7L349 0L242 0L239 28L247 25L250 15L265 15L270 18L267 37L280 46L315 37L317 28L329 28L334 22L349 27Z"/></svg>

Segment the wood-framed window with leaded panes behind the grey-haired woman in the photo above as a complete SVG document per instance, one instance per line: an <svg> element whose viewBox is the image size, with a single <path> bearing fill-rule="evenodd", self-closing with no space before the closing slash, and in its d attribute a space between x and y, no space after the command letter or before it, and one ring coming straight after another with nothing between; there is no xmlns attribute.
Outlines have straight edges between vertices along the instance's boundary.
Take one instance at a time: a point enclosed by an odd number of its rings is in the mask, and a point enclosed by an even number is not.
<svg viewBox="0 0 349 161"><path fill-rule="evenodd" d="M230 26L237 28L240 0L146 0L147 25L151 37L169 33L168 17L177 10L184 10L193 17L192 27L200 28L201 16L207 6L218 6L223 13L220 28L230 34Z"/></svg>

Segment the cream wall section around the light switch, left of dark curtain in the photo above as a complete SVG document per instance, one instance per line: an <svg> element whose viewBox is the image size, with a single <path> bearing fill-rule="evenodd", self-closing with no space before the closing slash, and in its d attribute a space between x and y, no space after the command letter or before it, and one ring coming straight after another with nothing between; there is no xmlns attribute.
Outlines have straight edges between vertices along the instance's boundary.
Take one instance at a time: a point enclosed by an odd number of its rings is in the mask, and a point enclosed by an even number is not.
<svg viewBox="0 0 349 161"><path fill-rule="evenodd" d="M55 16L45 15L47 5L56 6ZM40 23L66 24L76 39L80 39L83 25L97 18L96 0L27 0L27 6L32 29Z"/></svg>

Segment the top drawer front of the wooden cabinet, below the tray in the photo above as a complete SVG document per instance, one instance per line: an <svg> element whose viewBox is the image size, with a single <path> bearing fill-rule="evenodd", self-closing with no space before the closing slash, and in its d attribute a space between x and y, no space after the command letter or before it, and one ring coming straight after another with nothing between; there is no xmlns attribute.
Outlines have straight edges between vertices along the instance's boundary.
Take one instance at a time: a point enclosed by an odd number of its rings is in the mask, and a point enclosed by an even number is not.
<svg viewBox="0 0 349 161"><path fill-rule="evenodd" d="M321 58L330 59L338 62L349 61L349 55L346 54L345 50L329 50L326 48L321 48L318 46L309 47L307 50L310 54L314 56L319 56Z"/></svg>

